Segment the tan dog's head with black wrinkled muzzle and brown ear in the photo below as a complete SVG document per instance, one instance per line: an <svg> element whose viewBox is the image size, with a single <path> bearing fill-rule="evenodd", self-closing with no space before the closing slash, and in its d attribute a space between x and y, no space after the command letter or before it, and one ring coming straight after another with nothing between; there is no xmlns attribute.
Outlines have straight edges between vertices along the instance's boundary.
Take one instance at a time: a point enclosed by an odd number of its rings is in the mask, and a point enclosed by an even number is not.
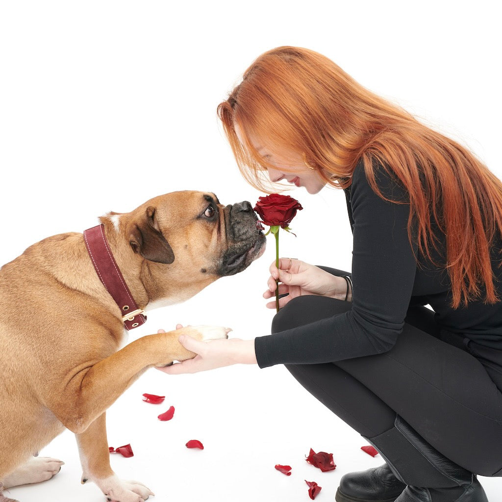
<svg viewBox="0 0 502 502"><path fill-rule="evenodd" d="M213 193L173 192L131 214L128 234L134 252L171 264L178 276L193 281L237 274L265 250L266 239L249 202L223 206Z"/></svg>

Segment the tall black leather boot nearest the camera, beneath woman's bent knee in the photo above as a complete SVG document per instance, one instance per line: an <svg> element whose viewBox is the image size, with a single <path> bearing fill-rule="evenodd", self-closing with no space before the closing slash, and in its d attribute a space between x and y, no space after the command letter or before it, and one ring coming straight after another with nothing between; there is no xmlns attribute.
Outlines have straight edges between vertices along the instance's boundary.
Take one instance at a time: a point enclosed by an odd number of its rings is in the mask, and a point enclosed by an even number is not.
<svg viewBox="0 0 502 502"><path fill-rule="evenodd" d="M488 502L476 476L455 464L397 416L394 427L368 439L407 485L395 502Z"/></svg>

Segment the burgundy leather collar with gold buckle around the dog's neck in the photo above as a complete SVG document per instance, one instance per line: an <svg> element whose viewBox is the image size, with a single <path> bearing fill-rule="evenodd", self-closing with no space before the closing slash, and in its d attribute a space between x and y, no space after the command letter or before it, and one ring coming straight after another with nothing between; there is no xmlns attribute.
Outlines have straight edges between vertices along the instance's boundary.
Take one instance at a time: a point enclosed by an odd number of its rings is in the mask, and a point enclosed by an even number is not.
<svg viewBox="0 0 502 502"><path fill-rule="evenodd" d="M131 295L131 291L129 291L126 281L118 269L104 235L103 224L85 230L84 241L96 274L118 305L126 329L134 329L145 324L147 316L143 315L143 310L134 301L133 295Z"/></svg>

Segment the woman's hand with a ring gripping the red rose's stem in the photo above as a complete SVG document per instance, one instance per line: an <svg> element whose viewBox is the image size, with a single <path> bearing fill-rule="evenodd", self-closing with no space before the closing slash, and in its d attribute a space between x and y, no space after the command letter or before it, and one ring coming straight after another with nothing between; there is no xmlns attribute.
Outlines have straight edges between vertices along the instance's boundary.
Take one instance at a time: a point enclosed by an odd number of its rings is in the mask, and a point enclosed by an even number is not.
<svg viewBox="0 0 502 502"><path fill-rule="evenodd" d="M280 258L279 269L274 261L270 266L270 277L267 281L269 289L264 298L272 298L276 294L276 280L279 279L279 307L284 307L297 296L318 295L345 300L347 283L343 277L333 276L315 265L291 258ZM282 283L282 284L281 284ZM267 308L276 308L276 302L267 303Z"/></svg>

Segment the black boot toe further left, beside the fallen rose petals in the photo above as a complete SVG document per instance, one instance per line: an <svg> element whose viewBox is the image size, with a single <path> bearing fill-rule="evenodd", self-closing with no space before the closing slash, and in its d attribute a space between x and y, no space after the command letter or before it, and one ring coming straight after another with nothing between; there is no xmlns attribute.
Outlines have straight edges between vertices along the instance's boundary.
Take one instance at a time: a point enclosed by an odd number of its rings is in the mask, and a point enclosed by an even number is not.
<svg viewBox="0 0 502 502"><path fill-rule="evenodd" d="M344 474L336 491L336 502L394 502L406 488L387 464Z"/></svg>

